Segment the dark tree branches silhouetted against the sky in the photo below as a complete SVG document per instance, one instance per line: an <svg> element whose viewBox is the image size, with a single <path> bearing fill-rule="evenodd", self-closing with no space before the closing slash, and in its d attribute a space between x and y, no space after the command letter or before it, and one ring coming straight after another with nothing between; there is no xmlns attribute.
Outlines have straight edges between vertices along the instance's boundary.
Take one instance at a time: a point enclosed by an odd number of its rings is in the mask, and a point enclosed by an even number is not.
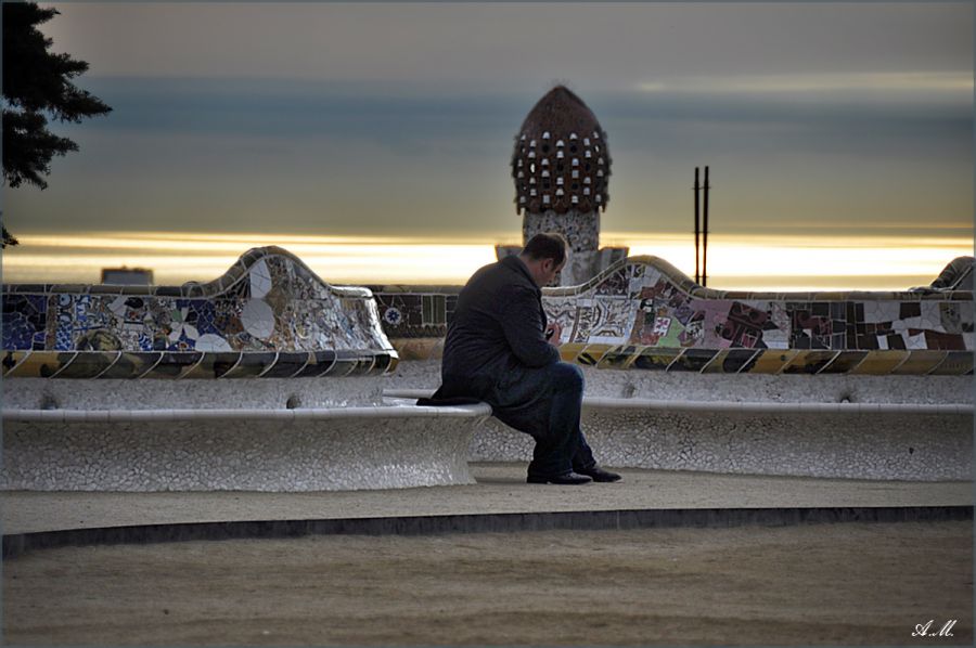
<svg viewBox="0 0 976 648"><path fill-rule="evenodd" d="M48 130L48 116L80 122L112 111L72 79L88 63L49 52L53 44L37 28L59 12L34 2L3 2L3 182L48 186L51 158L77 151L78 145ZM3 228L3 247L17 239Z"/></svg>

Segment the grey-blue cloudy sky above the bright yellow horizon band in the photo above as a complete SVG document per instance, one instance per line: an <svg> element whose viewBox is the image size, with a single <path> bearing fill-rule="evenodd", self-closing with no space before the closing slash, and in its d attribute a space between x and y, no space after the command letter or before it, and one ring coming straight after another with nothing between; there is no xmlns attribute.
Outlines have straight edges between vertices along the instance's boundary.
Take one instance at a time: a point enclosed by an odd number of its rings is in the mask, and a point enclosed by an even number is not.
<svg viewBox="0 0 976 648"><path fill-rule="evenodd" d="M608 134L605 232L973 232L973 7L54 3L114 112L7 190L15 234L519 238L513 135L563 82Z"/></svg>

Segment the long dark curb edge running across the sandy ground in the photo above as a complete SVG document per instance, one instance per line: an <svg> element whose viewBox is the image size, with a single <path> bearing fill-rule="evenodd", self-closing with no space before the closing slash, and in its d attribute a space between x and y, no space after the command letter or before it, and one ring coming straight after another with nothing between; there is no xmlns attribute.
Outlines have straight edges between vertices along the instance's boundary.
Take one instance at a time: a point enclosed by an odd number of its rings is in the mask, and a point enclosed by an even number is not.
<svg viewBox="0 0 976 648"><path fill-rule="evenodd" d="M829 522L972 520L973 506L676 508L502 513L306 520L243 520L65 529L3 535L3 558L80 545L149 544L304 535L425 535L513 531L624 530L652 527L785 527Z"/></svg>

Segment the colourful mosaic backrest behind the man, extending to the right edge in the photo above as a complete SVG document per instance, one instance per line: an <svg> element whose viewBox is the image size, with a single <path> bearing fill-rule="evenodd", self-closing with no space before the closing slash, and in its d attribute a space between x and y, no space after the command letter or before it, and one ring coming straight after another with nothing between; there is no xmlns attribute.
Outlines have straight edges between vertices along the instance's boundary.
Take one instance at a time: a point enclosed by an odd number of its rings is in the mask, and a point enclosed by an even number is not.
<svg viewBox="0 0 976 648"><path fill-rule="evenodd" d="M459 289L377 287L394 345L416 357L413 338L427 338L436 354ZM632 257L581 286L547 288L543 302L563 325L563 359L601 368L973 373L971 291L722 291L696 285L663 259ZM421 303L444 308L420 312Z"/></svg>

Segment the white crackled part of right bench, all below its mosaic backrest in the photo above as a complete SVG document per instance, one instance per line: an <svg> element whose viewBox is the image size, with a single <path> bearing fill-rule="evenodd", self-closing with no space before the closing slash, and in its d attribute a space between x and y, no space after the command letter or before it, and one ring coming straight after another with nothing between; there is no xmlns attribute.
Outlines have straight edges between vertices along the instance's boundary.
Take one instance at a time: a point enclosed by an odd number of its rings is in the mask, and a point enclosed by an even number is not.
<svg viewBox="0 0 976 648"><path fill-rule="evenodd" d="M436 361L403 362L386 384L433 390L440 384L438 374ZM583 432L598 461L608 466L923 481L972 477L972 376L707 375L593 367L583 367ZM608 399L656 404L600 406ZM753 411L708 411L723 404ZM822 412L788 411L818 404ZM899 412L902 406L906 411ZM938 410L926 413L930 407ZM524 462L531 458L532 445L528 435L492 418L472 440L471 457Z"/></svg>

